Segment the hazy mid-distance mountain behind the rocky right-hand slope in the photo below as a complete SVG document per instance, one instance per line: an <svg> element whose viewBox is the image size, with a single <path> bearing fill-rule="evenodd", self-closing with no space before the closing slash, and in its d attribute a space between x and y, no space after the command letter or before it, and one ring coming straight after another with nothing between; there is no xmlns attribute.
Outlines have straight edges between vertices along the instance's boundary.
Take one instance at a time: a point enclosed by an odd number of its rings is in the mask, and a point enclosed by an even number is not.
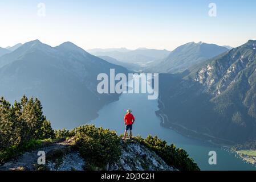
<svg viewBox="0 0 256 182"><path fill-rule="evenodd" d="M182 72L228 50L216 44L190 42L174 49L166 59L147 65L147 70L155 73Z"/></svg>

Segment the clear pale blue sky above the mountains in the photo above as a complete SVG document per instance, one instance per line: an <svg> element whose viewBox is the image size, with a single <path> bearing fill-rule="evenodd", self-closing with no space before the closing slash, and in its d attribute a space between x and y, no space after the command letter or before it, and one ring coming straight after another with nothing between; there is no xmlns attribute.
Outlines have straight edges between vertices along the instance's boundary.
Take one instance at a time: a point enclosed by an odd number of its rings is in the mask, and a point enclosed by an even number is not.
<svg viewBox="0 0 256 182"><path fill-rule="evenodd" d="M38 3L46 16L38 16ZM217 16L208 15L216 3ZM239 46L256 39L256 1L0 1L0 47L39 39L84 49L127 47L172 50L187 42Z"/></svg>

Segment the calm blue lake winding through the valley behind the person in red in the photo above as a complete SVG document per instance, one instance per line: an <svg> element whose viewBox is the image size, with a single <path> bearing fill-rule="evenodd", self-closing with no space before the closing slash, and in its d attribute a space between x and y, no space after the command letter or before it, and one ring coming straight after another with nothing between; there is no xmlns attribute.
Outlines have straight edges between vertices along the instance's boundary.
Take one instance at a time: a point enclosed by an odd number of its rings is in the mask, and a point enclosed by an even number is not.
<svg viewBox="0 0 256 182"><path fill-rule="evenodd" d="M135 78L136 79L136 78ZM157 117L159 110L157 100L148 100L147 94L121 94L119 101L112 102L99 111L99 117L92 124L116 130L117 134L124 133L123 117L127 108L132 109L135 115L133 135L141 137L157 135L174 143L177 147L184 148L201 170L255 170L252 164L244 162L235 152L228 147L217 146L206 142L203 138L194 139L192 135L177 132L174 128L163 127L161 119ZM106 115L108 116L106 118ZM217 152L217 165L208 163L209 151Z"/></svg>

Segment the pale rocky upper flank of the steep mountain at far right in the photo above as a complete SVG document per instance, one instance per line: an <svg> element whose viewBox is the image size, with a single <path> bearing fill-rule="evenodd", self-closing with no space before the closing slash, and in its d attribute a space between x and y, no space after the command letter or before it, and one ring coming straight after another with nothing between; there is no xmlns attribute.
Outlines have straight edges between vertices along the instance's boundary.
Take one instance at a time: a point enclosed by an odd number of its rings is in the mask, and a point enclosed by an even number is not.
<svg viewBox="0 0 256 182"><path fill-rule="evenodd" d="M246 70L255 71L256 41L249 40L241 47L234 48L228 53L217 57L197 71L194 81L200 82L215 96L220 95L239 80Z"/></svg>

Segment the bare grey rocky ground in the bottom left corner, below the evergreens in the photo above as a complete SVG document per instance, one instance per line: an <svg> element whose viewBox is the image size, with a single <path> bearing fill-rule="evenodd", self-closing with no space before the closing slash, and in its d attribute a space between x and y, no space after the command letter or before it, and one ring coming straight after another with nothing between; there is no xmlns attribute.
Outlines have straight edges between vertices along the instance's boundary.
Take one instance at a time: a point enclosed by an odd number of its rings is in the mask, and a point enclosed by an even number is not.
<svg viewBox="0 0 256 182"><path fill-rule="evenodd" d="M38 150L25 152L23 155L0 166L0 171L70 171L83 170L84 159L79 152L72 150L71 142L53 143ZM38 164L38 152L46 154L46 165Z"/></svg>

